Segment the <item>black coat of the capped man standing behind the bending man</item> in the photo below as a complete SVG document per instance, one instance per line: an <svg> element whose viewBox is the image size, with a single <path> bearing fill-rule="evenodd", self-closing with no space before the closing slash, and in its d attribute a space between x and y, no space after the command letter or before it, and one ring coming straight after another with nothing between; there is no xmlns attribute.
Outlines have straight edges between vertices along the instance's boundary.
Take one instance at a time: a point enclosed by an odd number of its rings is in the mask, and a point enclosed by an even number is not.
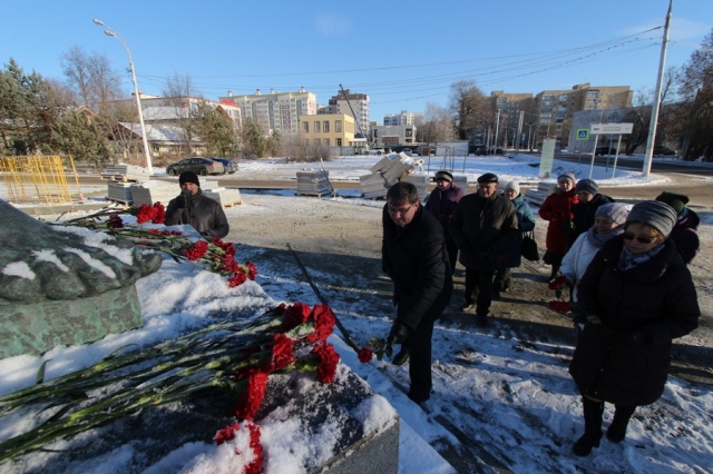
<svg viewBox="0 0 713 474"><path fill-rule="evenodd" d="M515 206L499 194L463 196L450 219L450 235L466 268L496 271L505 266L508 249L517 246Z"/></svg>

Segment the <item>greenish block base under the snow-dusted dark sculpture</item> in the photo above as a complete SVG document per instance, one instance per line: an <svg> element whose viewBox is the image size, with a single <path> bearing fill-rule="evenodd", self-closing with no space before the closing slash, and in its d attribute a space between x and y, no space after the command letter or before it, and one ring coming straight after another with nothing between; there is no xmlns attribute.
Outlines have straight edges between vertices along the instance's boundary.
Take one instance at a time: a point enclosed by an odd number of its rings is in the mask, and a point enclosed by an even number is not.
<svg viewBox="0 0 713 474"><path fill-rule="evenodd" d="M134 285L71 300L0 304L0 358L40 355L143 326Z"/></svg>

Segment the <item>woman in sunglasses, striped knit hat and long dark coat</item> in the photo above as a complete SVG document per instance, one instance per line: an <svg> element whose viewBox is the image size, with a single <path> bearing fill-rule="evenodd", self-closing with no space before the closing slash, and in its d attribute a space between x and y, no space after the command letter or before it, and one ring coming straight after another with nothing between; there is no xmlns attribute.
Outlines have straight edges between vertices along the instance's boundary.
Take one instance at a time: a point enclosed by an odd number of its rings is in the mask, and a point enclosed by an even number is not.
<svg viewBox="0 0 713 474"><path fill-rule="evenodd" d="M636 407L663 394L672 340L699 325L691 273L668 239L675 223L676 211L667 204L638 203L624 233L594 256L577 287L588 320L569 365L585 422L573 447L578 456L599 446L604 402L615 406L607 440L626 437Z"/></svg>

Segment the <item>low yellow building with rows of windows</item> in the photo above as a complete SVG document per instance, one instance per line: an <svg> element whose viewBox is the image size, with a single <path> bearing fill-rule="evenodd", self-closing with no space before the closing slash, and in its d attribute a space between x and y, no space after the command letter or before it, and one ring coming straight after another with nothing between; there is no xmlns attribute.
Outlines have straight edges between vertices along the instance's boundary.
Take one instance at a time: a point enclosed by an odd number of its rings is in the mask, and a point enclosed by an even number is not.
<svg viewBox="0 0 713 474"><path fill-rule="evenodd" d="M300 139L306 147L355 146L354 118L345 113L300 116Z"/></svg>

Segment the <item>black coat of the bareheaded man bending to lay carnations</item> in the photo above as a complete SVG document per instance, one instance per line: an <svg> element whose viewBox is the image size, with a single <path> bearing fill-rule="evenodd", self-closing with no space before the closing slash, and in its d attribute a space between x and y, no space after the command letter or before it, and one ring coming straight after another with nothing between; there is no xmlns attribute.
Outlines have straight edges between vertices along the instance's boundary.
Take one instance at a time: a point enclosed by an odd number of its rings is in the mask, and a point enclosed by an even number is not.
<svg viewBox="0 0 713 474"><path fill-rule="evenodd" d="M393 280L397 319L410 329L438 319L453 287L441 226L422 206L403 228L384 206L382 224L381 266Z"/></svg>

